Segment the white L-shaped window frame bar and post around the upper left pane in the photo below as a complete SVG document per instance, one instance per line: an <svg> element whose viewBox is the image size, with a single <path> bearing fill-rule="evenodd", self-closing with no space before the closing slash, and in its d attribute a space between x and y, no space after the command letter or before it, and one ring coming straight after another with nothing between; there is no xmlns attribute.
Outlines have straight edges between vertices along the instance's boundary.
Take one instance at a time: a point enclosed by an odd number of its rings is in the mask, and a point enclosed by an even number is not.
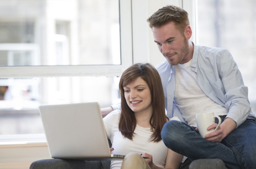
<svg viewBox="0 0 256 169"><path fill-rule="evenodd" d="M1 66L1 78L120 76L133 64L131 0L120 0L120 65Z"/></svg>

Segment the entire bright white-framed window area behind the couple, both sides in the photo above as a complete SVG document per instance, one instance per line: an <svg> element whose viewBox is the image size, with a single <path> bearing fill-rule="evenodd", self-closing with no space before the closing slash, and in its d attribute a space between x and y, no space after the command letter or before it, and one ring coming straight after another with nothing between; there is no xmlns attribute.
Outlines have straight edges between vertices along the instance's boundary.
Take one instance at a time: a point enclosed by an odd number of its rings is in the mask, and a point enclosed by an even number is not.
<svg viewBox="0 0 256 169"><path fill-rule="evenodd" d="M39 105L119 102L124 69L165 60L146 19L166 4L189 12L194 42L231 51L256 111L254 1L1 0L0 135L41 133Z"/></svg>

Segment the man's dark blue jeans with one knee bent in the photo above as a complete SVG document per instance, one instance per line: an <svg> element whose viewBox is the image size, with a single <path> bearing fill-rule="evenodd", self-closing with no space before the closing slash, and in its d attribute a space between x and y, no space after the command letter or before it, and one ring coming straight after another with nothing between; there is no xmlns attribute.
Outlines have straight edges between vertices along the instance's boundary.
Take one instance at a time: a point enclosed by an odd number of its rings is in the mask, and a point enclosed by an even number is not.
<svg viewBox="0 0 256 169"><path fill-rule="evenodd" d="M223 119L222 119L223 120ZM171 120L161 132L165 145L190 160L219 158L230 169L256 168L256 122L246 120L222 142L202 138L195 127Z"/></svg>

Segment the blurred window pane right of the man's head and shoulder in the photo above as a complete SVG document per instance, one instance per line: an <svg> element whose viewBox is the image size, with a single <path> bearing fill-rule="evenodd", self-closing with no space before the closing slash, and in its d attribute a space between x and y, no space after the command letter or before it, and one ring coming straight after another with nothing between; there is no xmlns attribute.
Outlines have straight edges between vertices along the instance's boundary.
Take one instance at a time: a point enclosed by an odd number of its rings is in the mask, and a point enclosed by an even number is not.
<svg viewBox="0 0 256 169"><path fill-rule="evenodd" d="M238 64L256 111L256 1L199 0L198 44L224 47Z"/></svg>

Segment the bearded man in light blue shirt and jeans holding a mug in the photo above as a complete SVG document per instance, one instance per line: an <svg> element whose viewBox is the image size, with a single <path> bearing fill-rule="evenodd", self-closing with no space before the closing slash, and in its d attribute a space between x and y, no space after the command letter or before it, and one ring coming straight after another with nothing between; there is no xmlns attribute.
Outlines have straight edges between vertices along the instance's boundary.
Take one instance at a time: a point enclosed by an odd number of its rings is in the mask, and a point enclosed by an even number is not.
<svg viewBox="0 0 256 169"><path fill-rule="evenodd" d="M248 89L233 57L226 49L202 47L190 38L187 12L169 5L147 21L166 61L156 68L165 92L169 121L162 129L165 145L190 160L220 158L226 167L256 167L256 114ZM202 138L195 114L214 112L220 127ZM208 130L217 124L210 125Z"/></svg>

